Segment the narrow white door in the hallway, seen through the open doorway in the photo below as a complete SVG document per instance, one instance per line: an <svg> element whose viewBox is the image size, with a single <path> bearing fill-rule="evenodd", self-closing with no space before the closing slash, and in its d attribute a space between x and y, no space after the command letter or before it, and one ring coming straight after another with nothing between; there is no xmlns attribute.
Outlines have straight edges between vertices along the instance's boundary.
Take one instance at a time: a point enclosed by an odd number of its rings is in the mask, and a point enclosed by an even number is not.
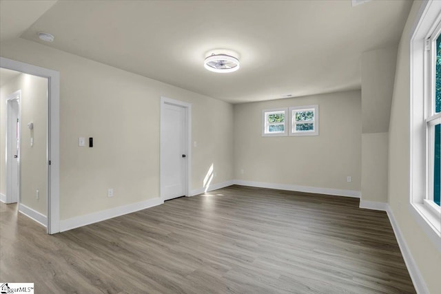
<svg viewBox="0 0 441 294"><path fill-rule="evenodd" d="M8 100L6 132L6 203L15 203L20 194L20 92Z"/></svg>

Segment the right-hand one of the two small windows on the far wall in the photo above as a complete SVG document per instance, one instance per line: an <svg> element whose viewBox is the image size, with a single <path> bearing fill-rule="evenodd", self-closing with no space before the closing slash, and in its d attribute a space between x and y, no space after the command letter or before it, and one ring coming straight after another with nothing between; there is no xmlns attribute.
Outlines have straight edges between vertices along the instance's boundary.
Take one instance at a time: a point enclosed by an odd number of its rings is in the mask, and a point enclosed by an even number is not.
<svg viewBox="0 0 441 294"><path fill-rule="evenodd" d="M289 107L289 136L318 135L318 105Z"/></svg>

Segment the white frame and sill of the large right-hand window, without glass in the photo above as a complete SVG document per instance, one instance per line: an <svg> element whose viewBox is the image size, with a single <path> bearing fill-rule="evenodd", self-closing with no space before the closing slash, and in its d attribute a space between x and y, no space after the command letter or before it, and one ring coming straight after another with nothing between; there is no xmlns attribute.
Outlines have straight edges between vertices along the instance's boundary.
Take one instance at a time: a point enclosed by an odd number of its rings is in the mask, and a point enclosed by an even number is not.
<svg viewBox="0 0 441 294"><path fill-rule="evenodd" d="M440 32L441 1L423 2L411 30L410 39L410 175L409 210L424 232L441 251L441 209L431 200L430 168L431 136L429 131L440 118L433 115L429 101L433 95L434 68L427 42L430 36ZM438 30L437 30L438 29ZM432 48L431 48L432 47ZM432 154L433 155L433 154ZM433 158L433 156L432 156Z"/></svg>

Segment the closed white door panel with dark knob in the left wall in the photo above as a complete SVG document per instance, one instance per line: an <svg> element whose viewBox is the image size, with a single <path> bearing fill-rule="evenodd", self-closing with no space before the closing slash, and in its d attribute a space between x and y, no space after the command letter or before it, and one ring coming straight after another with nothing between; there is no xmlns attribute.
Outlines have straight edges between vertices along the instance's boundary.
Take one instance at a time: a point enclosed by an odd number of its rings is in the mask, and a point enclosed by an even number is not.
<svg viewBox="0 0 441 294"><path fill-rule="evenodd" d="M185 107L164 104L161 126L162 197L164 200L185 196L186 190L186 111Z"/></svg>

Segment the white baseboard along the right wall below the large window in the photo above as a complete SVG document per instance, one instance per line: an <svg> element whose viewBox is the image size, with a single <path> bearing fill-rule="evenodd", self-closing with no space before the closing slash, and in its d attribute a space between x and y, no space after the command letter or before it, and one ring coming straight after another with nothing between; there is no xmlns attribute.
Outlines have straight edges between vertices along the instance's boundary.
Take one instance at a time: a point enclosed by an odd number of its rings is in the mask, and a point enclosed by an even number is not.
<svg viewBox="0 0 441 294"><path fill-rule="evenodd" d="M400 246L402 258L404 259L404 263L407 266L407 270L409 271L409 275L411 276L411 280L413 282L413 286L416 289L416 292L419 294L429 293L426 283L424 283L420 270L418 269L415 260L413 260L411 251L409 250L409 247L407 246L406 241L404 240L400 227L398 227L398 224L395 220L395 217L393 216L389 204L387 204L386 212L387 212L387 216L389 217L389 220L391 221L392 229L397 238L398 246Z"/></svg>

